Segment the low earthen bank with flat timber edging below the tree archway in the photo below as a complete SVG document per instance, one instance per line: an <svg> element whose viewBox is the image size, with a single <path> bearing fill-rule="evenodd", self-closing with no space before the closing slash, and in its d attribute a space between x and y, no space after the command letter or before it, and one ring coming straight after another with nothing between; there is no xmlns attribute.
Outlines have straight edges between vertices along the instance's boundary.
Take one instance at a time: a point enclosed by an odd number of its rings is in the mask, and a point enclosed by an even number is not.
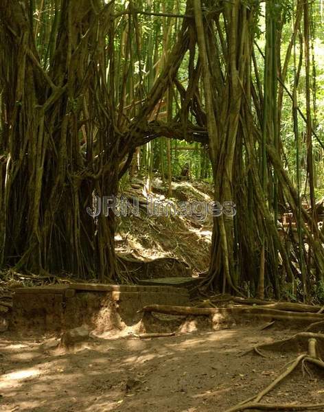
<svg viewBox="0 0 324 412"><path fill-rule="evenodd" d="M189 305L188 291L170 286L67 284L16 288L10 329L61 332L84 323L100 332L134 325L150 304Z"/></svg>

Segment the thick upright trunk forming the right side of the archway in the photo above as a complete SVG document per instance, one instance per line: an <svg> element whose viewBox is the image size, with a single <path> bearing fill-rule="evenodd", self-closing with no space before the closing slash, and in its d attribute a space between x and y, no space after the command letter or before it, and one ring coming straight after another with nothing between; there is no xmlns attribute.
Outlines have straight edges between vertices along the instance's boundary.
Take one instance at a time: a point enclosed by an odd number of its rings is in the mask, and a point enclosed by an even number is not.
<svg viewBox="0 0 324 412"><path fill-rule="evenodd" d="M224 24L227 27L227 61L225 73L220 67L210 67L216 61L218 48L213 36L204 25L200 0L195 1L196 30L200 58L203 66L204 92L209 132L209 150L213 168L215 201L233 202L233 170L235 148L238 144L240 130L240 113L242 105L242 83L246 80L250 34L247 32L248 12L239 0L227 5L224 10ZM207 49L211 54L207 56ZM240 56L240 53L243 55ZM222 80L225 76L226 80ZM234 202L233 202L234 203ZM234 258L234 220L228 214L214 218L211 246L211 264L209 284L222 290L236 290L238 278Z"/></svg>

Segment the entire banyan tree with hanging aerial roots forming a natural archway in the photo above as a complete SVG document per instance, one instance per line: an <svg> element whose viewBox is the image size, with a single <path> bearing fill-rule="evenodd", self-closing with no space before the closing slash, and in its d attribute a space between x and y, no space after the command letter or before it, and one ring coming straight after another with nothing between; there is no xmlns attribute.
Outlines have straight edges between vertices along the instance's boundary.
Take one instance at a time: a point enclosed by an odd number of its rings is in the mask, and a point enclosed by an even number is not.
<svg viewBox="0 0 324 412"><path fill-rule="evenodd" d="M258 0L166 5L1 1L1 264L120 281L114 216L93 219L86 206L95 194L117 194L137 147L167 137L208 144L215 200L236 205L235 218L214 218L205 287L243 294L248 283L263 297L270 285L279 296L281 282L300 277L307 297L324 265L310 94L305 115L297 104L301 66L310 88L309 5L298 0L292 15L285 1L266 1L265 8ZM256 41L263 11L264 50ZM281 61L288 19L291 40ZM305 60L296 61L292 51L299 42ZM285 83L292 60L290 91ZM283 168L283 95L297 147L301 117L305 121L312 214L301 204L300 176L295 187ZM166 120L154 116L163 100ZM286 205L298 222L298 236L289 242L277 227Z"/></svg>

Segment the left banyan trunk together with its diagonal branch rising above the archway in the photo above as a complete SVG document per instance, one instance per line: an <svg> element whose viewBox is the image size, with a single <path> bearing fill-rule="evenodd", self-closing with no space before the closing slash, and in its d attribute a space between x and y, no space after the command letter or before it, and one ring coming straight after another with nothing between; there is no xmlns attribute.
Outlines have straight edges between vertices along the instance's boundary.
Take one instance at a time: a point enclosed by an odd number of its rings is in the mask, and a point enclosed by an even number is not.
<svg viewBox="0 0 324 412"><path fill-rule="evenodd" d="M93 196L117 194L125 171L119 165L148 136L148 119L187 51L187 22L127 123L126 83L116 91L115 80L127 80L135 68L129 62L116 67L113 2L55 2L55 18L48 10L44 18L50 33L38 49L32 7L27 1L0 3L0 264L121 280L115 218L91 218L86 207ZM138 36L136 41L139 47ZM132 46L130 37L127 43Z"/></svg>

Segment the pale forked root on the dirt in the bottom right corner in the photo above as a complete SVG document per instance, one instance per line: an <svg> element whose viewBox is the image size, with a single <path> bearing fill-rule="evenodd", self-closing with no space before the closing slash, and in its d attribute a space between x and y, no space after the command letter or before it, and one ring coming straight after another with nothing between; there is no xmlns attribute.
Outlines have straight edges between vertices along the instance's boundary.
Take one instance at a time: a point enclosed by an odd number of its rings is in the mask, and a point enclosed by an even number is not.
<svg viewBox="0 0 324 412"><path fill-rule="evenodd" d="M277 345L278 343L283 343L283 342L288 342L291 340L294 340L300 336L305 337L305 336L310 336L310 339L308 339L308 353L307 354L302 354L299 355L294 361L291 363L288 363L286 365L286 370L283 371L282 374L280 374L268 387L266 387L263 391L259 392L257 396L254 396L253 398L249 398L247 400L244 400L243 402L240 402L240 404L236 405L235 407L232 407L230 409L227 409L225 412L235 412L235 411L245 411L246 409L261 409L264 411L309 411L312 409L323 409L324 404L306 404L306 405L297 405L297 404L260 404L259 402L266 396L275 386L277 386L284 378L286 378L288 375L294 371L297 366L302 363L303 369L306 368L307 363L312 363L313 365L316 365L317 367L320 367L321 369L324 369L324 362L317 357L317 341L316 337L320 337L323 339L323 335L316 335L316 334L310 334L308 332L303 332L301 334L297 334L292 336L291 339L285 339L285 341L279 341L279 342L274 342L273 344L270 345ZM260 346L266 346L266 345L260 345ZM259 346L259 347L260 347ZM269 346L269 345L268 345ZM255 350L255 348L254 348Z"/></svg>

